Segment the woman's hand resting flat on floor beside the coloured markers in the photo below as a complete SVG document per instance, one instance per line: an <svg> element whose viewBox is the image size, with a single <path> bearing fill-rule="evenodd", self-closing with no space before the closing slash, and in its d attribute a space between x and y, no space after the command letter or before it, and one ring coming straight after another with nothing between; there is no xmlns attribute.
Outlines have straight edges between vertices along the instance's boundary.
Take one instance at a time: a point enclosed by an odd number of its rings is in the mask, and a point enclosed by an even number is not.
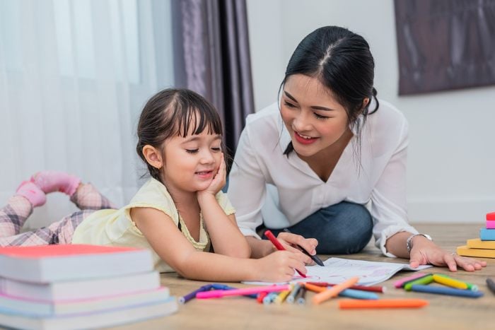
<svg viewBox="0 0 495 330"><path fill-rule="evenodd" d="M417 268L419 265L432 264L433 266L448 266L450 271L457 271L458 266L465 271L479 271L487 266L487 261L479 261L469 257L461 257L455 253L448 253L424 237L417 237L411 249L409 266Z"/></svg>

